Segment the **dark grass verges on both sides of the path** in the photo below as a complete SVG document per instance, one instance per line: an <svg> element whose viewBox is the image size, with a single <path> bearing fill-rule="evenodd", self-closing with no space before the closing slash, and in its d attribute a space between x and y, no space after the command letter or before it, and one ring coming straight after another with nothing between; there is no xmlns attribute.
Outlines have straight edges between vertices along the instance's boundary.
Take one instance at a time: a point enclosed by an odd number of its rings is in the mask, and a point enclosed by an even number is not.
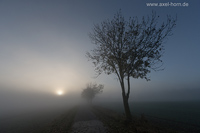
<svg viewBox="0 0 200 133"><path fill-rule="evenodd" d="M74 117L77 113L78 106L75 106L67 110L64 114L56 117L54 121L49 124L39 122L37 126L27 131L29 133L68 133L71 131ZM125 117L121 113L117 113L113 110L103 108L100 106L92 107L93 113L106 127L107 133L180 133L176 131L172 126L167 126L167 123L157 123L147 119L144 115L140 117L133 117L133 121L130 124L125 122ZM43 116L41 116L43 117ZM20 123L19 123L20 124ZM35 128L37 127L37 129ZM170 129L171 128L171 129ZM24 129L23 129L24 130ZM25 131L25 130L24 130Z"/></svg>

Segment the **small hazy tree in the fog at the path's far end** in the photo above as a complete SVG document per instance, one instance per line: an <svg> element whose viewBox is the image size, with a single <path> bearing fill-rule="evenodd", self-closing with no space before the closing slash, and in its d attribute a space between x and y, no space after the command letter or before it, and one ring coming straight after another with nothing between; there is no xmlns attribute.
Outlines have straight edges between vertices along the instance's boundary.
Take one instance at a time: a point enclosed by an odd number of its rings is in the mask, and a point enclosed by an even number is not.
<svg viewBox="0 0 200 133"><path fill-rule="evenodd" d="M81 96L91 104L94 97L103 92L103 88L104 86L101 84L89 83L87 87L83 89Z"/></svg>

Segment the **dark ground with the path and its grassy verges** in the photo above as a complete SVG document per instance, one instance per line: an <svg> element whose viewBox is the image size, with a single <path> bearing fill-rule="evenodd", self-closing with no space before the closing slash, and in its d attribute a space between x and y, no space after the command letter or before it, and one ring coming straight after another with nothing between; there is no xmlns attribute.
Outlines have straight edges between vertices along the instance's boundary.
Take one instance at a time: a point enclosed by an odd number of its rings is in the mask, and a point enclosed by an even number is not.
<svg viewBox="0 0 200 133"><path fill-rule="evenodd" d="M154 123L144 115L133 117L126 123L125 117L113 110L100 106L76 106L40 133L186 133L186 130L167 126L167 123ZM199 130L188 130L193 133Z"/></svg>

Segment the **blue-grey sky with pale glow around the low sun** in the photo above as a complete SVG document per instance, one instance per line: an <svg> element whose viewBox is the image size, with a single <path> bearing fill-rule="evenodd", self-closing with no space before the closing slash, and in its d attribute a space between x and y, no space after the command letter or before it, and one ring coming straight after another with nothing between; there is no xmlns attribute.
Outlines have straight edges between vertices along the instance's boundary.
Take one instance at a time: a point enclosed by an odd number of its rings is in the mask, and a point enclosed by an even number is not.
<svg viewBox="0 0 200 133"><path fill-rule="evenodd" d="M94 48L88 36L94 24L112 19L119 9L126 18L140 19L152 10L161 16L159 21L167 15L178 18L173 36L164 44L164 71L152 71L149 82L132 79L130 101L200 100L200 2L176 1L188 3L187 7L149 7L147 2L158 1L1 0L1 101L12 103L31 95L54 100L80 97L89 82L104 84L99 99L121 101L117 77L94 78L94 66L85 57ZM58 90L62 96L56 94Z"/></svg>

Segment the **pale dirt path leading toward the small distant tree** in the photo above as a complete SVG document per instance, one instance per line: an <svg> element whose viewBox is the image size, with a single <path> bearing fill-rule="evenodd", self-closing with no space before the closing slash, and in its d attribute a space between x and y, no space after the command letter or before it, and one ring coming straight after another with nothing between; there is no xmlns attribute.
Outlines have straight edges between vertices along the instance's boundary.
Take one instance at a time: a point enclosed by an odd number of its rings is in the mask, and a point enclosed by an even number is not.
<svg viewBox="0 0 200 133"><path fill-rule="evenodd" d="M71 133L106 133L106 130L90 107L81 105L74 118Z"/></svg>

